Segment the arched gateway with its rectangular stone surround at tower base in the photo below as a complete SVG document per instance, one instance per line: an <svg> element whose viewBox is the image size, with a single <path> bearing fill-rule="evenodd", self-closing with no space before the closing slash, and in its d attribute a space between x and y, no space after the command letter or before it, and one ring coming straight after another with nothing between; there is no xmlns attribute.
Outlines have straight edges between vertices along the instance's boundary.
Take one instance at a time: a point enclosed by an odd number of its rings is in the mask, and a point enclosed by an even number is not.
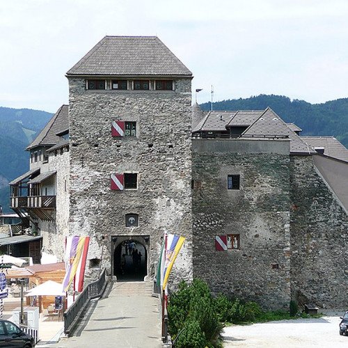
<svg viewBox="0 0 348 348"><path fill-rule="evenodd" d="M142 281L148 276L148 236L114 236L112 274L120 281Z"/></svg>

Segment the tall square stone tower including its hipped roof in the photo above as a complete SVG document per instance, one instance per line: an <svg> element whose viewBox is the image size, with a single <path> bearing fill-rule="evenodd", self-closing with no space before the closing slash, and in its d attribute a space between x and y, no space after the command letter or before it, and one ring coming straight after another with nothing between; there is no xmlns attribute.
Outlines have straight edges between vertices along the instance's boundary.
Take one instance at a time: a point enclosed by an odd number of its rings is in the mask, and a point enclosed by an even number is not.
<svg viewBox="0 0 348 348"><path fill-rule="evenodd" d="M167 231L187 237L172 280L191 278L192 73L157 37L106 36L66 76L70 235L91 237L86 276L127 277L132 242L128 276L154 276Z"/></svg>

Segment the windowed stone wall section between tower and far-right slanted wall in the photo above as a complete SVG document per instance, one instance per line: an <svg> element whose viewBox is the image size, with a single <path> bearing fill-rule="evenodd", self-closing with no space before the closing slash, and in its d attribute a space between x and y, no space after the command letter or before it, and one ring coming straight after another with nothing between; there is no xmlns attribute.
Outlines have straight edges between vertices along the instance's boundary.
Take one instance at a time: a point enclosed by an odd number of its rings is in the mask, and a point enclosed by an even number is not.
<svg viewBox="0 0 348 348"><path fill-rule="evenodd" d="M288 141L193 140L193 276L264 308L290 301ZM240 189L227 176L240 175ZM215 236L239 234L239 250Z"/></svg>

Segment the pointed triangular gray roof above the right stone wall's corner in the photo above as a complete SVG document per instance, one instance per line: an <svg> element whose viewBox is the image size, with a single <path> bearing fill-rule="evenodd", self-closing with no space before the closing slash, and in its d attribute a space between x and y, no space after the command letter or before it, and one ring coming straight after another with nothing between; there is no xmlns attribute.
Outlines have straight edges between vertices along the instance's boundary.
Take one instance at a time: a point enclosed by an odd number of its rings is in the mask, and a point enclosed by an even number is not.
<svg viewBox="0 0 348 348"><path fill-rule="evenodd" d="M242 136L287 136L290 139L290 153L313 154L315 151L270 108L267 108Z"/></svg>

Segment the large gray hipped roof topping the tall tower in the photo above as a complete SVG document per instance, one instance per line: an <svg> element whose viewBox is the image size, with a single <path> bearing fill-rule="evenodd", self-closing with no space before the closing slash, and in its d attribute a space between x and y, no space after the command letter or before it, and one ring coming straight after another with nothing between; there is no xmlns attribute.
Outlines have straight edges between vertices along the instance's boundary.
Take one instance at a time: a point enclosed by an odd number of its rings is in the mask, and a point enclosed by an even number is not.
<svg viewBox="0 0 348 348"><path fill-rule="evenodd" d="M179 75L192 72L156 36L105 36L67 75Z"/></svg>

